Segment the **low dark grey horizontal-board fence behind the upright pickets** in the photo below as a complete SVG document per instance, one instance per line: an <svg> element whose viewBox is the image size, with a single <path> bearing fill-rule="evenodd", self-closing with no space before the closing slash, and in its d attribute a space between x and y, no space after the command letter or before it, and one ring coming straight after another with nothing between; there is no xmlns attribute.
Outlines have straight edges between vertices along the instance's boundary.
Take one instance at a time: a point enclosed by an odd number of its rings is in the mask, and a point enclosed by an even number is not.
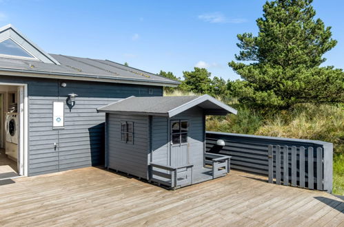
<svg viewBox="0 0 344 227"><path fill-rule="evenodd" d="M217 140L224 140L225 146L216 145ZM297 147L298 152L300 147L304 147L306 151L308 149L314 151L313 162L310 166L305 165L305 175L310 167L312 167L314 177L317 174L322 176L321 184L318 184L318 178L314 182L314 188L318 190L323 190L327 192L332 192L332 155L333 155L333 145L330 142L323 142L318 140L299 140L292 138L277 138L270 136L252 136L236 133L221 133L207 131L206 133L206 152L208 153L219 153L222 155L230 155L231 158L231 168L239 169L241 171L249 171L252 173L258 173L261 175L269 175L269 153L268 146L288 146ZM321 149L321 171L316 160L316 151ZM307 153L306 153L307 155ZM300 155L296 155L296 162L299 163ZM290 156L292 158L292 156ZM307 156L305 157L305 159ZM320 158L320 156L319 156ZM270 161L271 162L271 161ZM274 170L276 169L276 158L273 158ZM308 162L308 159L307 159ZM315 163L316 162L316 163ZM292 162L290 162L291 165ZM312 166L313 165L313 166ZM292 166L290 166L292 169ZM302 170L302 167L301 167ZM289 172L288 172L289 174ZM292 174L292 173L290 173ZM299 182L299 176L303 177L303 173L296 171L297 181ZM274 172L274 178L276 173ZM307 175L306 175L307 177ZM315 179L315 178L314 178ZM320 183L320 181L319 181ZM319 186L317 186L318 184ZM311 187L312 188L312 187Z"/></svg>

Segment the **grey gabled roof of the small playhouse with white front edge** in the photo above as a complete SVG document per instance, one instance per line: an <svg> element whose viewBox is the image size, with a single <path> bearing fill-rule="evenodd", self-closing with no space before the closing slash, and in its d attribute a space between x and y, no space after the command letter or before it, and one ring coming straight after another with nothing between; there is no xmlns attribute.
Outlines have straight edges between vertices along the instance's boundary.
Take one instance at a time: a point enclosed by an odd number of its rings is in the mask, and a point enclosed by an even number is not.
<svg viewBox="0 0 344 227"><path fill-rule="evenodd" d="M172 117L192 107L201 107L205 114L236 114L236 109L225 105L209 95L203 96L130 96L118 102L100 107L99 112L119 114L139 114Z"/></svg>

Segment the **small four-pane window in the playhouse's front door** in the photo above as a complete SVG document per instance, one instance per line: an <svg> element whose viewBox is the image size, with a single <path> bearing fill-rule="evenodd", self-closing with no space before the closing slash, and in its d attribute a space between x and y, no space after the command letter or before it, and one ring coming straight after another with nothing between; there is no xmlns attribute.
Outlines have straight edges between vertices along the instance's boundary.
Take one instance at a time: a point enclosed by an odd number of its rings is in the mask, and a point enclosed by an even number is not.
<svg viewBox="0 0 344 227"><path fill-rule="evenodd" d="M189 125L186 120L174 120L171 122L172 144L183 144L188 142Z"/></svg>

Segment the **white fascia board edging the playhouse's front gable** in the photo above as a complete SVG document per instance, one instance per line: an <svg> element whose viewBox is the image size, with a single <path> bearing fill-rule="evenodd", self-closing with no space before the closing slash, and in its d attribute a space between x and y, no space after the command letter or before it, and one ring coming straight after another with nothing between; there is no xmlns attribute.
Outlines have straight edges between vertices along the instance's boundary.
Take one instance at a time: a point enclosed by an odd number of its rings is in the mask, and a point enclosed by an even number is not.
<svg viewBox="0 0 344 227"><path fill-rule="evenodd" d="M232 113L232 114L237 114L237 110L225 105L223 102L220 102L219 100L217 100L216 98L212 98L212 96L209 96L207 94L203 95L203 96L199 96L198 98L195 98L194 100L191 100L189 102L184 103L183 105L176 107L174 109L171 109L170 111L168 111L168 116L170 118L172 118L173 116L176 116L177 114L180 114L181 112L190 109L196 105L201 104L202 102L205 102L206 100L210 100L210 102L213 102L215 105L218 105L219 107L227 110L228 112Z"/></svg>

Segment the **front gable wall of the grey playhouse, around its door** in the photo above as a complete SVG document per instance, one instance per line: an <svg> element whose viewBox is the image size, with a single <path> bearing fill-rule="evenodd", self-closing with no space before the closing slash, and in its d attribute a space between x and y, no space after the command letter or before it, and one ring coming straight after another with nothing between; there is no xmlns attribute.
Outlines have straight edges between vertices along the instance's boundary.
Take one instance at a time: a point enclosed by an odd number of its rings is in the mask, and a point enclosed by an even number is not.
<svg viewBox="0 0 344 227"><path fill-rule="evenodd" d="M190 164L195 169L203 167L204 116L203 109L193 107L173 118L152 118L152 162L170 164L170 120L188 120Z"/></svg>

